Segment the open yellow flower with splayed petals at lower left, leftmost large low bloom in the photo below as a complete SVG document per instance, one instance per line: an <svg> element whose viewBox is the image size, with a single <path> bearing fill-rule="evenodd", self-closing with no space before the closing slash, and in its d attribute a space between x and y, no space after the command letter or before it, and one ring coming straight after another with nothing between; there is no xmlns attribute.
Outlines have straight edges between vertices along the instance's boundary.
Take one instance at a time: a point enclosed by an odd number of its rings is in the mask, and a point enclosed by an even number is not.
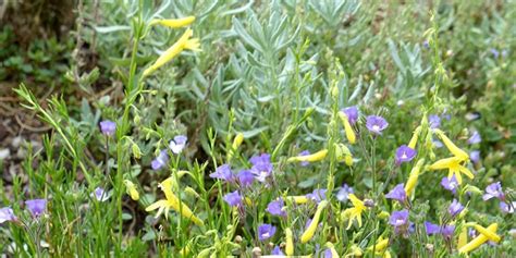
<svg viewBox="0 0 516 258"><path fill-rule="evenodd" d="M145 210L152 211L159 209L158 213L156 214L156 218L158 218L164 211L164 217L165 219L168 219L169 210L170 208L172 208L173 210L181 213L181 216L183 216L184 218L192 220L195 224L204 225L204 222L199 220L184 202L181 202L180 206L180 199L172 193L173 181L173 177L169 177L165 181L161 182L159 187L161 188L161 191L163 191L165 199L161 199L151 204Z"/></svg>

